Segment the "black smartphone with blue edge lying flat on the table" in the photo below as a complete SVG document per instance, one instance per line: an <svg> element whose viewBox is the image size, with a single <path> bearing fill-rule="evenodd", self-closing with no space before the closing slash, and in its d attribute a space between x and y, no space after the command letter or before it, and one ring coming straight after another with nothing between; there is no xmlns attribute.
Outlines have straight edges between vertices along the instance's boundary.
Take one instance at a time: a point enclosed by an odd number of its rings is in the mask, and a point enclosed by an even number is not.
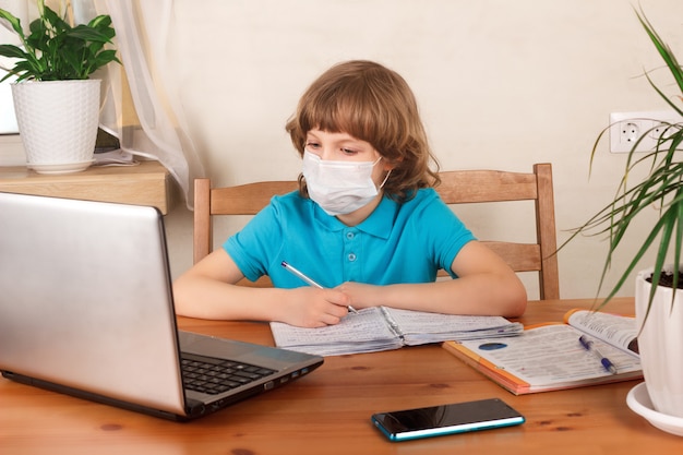
<svg viewBox="0 0 683 455"><path fill-rule="evenodd" d="M511 427L524 421L524 416L499 398L372 415L374 426L391 441Z"/></svg>

